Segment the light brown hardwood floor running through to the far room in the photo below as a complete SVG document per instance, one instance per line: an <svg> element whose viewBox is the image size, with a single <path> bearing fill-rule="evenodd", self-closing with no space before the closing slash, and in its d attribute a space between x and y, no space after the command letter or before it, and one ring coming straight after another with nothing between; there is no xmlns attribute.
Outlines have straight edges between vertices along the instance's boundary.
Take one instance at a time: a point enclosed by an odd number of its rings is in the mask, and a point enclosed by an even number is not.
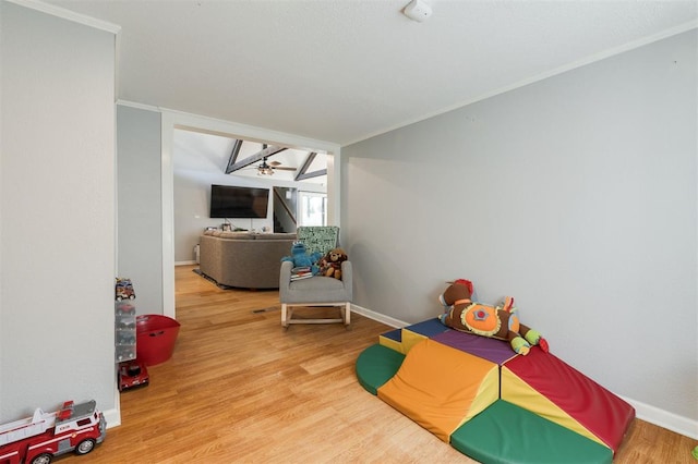
<svg viewBox="0 0 698 464"><path fill-rule="evenodd" d="M280 326L278 292L220 290L176 269L174 354L121 394L121 422L58 463L471 463L359 386L354 362L390 328ZM698 442L636 419L616 463L694 463Z"/></svg>

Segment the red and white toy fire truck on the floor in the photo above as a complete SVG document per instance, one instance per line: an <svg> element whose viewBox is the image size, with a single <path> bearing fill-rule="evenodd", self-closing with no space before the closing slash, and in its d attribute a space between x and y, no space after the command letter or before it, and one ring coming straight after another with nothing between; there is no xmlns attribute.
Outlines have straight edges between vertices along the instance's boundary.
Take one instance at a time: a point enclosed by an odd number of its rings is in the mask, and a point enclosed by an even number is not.
<svg viewBox="0 0 698 464"><path fill-rule="evenodd" d="M94 400L67 401L56 413L37 408L33 417L0 425L0 464L48 464L71 451L87 454L104 441L106 429Z"/></svg>

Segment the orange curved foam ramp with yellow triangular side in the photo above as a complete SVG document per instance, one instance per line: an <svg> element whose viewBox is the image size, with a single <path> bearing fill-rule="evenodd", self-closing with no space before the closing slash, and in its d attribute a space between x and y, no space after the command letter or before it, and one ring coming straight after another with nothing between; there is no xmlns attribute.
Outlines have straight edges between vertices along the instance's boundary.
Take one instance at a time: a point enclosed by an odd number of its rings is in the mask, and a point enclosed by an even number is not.
<svg viewBox="0 0 698 464"><path fill-rule="evenodd" d="M378 389L378 398L445 442L498 395L496 364L431 339L414 344Z"/></svg>

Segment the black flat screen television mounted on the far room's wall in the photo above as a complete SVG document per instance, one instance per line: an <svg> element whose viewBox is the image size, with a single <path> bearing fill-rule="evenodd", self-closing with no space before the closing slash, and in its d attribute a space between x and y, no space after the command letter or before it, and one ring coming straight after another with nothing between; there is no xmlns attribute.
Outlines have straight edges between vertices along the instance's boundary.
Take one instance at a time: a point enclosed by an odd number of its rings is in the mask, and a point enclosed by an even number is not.
<svg viewBox="0 0 698 464"><path fill-rule="evenodd" d="M212 218L266 218L268 205L268 188L210 186Z"/></svg>

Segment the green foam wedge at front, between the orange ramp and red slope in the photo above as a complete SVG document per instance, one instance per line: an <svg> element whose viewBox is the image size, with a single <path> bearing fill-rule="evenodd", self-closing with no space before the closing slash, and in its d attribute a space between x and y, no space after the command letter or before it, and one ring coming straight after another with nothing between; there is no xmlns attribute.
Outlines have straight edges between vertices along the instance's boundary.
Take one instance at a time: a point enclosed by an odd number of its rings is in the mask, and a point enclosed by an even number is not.
<svg viewBox="0 0 698 464"><path fill-rule="evenodd" d="M503 400L460 426L450 444L482 463L607 463L613 451Z"/></svg>

